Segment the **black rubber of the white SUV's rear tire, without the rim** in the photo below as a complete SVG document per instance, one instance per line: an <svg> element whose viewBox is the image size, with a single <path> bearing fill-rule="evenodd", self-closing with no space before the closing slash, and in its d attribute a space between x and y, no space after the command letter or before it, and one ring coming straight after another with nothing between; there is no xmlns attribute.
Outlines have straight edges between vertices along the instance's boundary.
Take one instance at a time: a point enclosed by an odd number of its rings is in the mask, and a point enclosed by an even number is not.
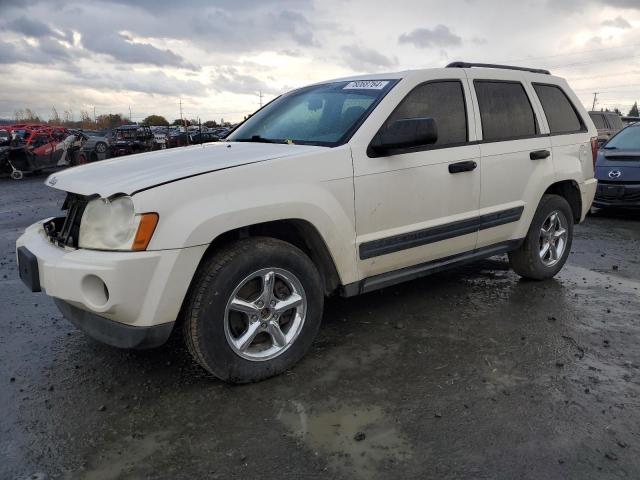
<svg viewBox="0 0 640 480"><path fill-rule="evenodd" d="M548 217L558 212L567 231L562 254L553 265L545 265L540 257L541 229ZM511 268L521 277L531 280L546 280L555 276L564 266L573 241L573 212L569 203L559 195L543 195L531 226L522 245L509 253Z"/></svg>

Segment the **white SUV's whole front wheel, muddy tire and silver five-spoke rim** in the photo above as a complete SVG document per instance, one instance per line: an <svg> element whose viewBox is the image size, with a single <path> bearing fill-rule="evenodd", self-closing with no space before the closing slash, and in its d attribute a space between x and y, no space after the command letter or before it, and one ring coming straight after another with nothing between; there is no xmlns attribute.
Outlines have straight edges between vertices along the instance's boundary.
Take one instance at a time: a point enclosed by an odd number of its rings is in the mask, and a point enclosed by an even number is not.
<svg viewBox="0 0 640 480"><path fill-rule="evenodd" d="M323 303L320 274L301 250L272 238L240 240L200 265L183 309L184 339L219 379L264 380L309 350Z"/></svg>

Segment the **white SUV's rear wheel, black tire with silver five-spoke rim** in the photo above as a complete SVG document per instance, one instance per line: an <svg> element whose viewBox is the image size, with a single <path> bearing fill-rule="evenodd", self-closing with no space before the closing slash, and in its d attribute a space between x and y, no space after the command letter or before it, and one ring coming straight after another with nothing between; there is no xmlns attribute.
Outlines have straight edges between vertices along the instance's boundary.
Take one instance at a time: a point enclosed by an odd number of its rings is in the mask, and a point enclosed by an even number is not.
<svg viewBox="0 0 640 480"><path fill-rule="evenodd" d="M559 223L553 219L553 214ZM554 240L543 256L543 248L550 239ZM567 261L572 241L573 212L569 203L559 195L543 195L524 242L509 253L511 268L521 277L531 280L552 278Z"/></svg>

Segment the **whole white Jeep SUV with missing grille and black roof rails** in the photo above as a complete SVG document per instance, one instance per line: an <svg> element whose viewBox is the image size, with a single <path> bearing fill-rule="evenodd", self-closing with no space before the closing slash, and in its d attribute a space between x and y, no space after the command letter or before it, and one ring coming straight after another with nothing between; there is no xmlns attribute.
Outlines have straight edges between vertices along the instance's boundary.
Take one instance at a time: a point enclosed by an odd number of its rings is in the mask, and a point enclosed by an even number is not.
<svg viewBox="0 0 640 480"><path fill-rule="evenodd" d="M455 63L294 90L227 141L72 168L66 215L17 241L20 275L92 337L174 329L230 382L309 349L326 295L491 255L553 277L596 190L596 129L542 70Z"/></svg>

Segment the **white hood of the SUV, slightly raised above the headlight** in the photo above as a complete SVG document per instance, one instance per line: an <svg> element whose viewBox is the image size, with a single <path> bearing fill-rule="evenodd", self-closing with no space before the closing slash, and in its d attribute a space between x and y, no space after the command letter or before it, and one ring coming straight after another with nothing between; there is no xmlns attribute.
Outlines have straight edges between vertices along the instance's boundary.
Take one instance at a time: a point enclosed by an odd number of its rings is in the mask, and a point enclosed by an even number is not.
<svg viewBox="0 0 640 480"><path fill-rule="evenodd" d="M132 195L164 183L226 168L300 155L327 147L273 143L216 142L178 147L69 168L54 173L47 185L103 198Z"/></svg>

